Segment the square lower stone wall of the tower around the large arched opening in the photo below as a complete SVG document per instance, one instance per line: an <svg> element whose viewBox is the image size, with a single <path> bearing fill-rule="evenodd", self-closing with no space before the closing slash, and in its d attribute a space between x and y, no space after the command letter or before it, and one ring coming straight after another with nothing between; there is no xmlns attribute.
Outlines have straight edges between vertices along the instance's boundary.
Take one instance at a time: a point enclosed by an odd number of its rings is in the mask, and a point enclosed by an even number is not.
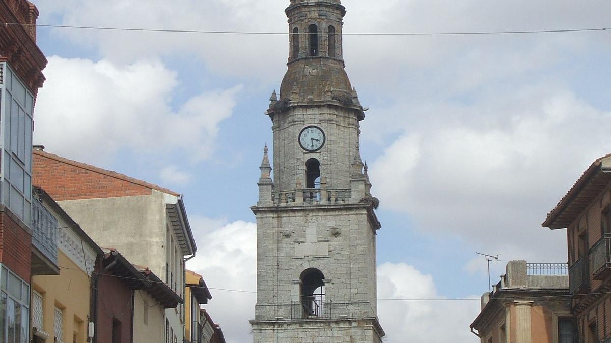
<svg viewBox="0 0 611 343"><path fill-rule="evenodd" d="M258 212L256 319L290 318L309 268L323 272L334 317L375 317L375 234L358 204Z"/></svg>

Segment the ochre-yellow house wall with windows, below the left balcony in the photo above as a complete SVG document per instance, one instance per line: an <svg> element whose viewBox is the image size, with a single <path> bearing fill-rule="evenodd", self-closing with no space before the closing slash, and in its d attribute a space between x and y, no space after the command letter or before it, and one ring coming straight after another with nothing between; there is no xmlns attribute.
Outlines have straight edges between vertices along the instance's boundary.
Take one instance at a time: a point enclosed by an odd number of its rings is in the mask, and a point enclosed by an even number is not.
<svg viewBox="0 0 611 343"><path fill-rule="evenodd" d="M57 251L59 275L32 276L32 289L43 297L43 328L49 334L46 343L54 342L54 311L61 308L64 316L64 342L87 341L89 316L89 277L61 250Z"/></svg>

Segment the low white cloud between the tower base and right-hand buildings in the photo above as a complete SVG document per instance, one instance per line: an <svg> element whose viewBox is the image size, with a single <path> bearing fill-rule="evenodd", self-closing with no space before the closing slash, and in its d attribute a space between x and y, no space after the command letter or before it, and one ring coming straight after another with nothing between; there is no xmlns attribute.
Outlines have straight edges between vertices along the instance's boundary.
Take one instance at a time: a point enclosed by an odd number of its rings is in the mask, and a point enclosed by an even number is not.
<svg viewBox="0 0 611 343"><path fill-rule="evenodd" d="M388 343L478 342L469 324L479 313L480 302L445 300L437 294L433 277L411 265L379 265L378 298L394 299L378 301L378 317Z"/></svg>

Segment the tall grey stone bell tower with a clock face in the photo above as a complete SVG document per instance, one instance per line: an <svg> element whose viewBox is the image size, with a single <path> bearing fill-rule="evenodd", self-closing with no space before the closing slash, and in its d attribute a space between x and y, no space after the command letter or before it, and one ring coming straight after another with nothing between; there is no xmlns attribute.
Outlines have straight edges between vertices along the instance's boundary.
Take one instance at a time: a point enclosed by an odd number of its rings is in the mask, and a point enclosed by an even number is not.
<svg viewBox="0 0 611 343"><path fill-rule="evenodd" d="M291 0L288 71L267 115L254 342L381 342L378 200L359 151L364 109L344 70L340 0Z"/></svg>

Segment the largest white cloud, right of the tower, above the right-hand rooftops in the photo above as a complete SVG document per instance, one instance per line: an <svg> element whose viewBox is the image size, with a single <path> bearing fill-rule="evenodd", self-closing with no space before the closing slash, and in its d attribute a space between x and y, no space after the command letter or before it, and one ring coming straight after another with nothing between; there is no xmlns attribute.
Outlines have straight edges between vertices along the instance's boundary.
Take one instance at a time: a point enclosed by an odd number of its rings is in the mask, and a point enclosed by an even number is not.
<svg viewBox="0 0 611 343"><path fill-rule="evenodd" d="M611 150L602 125L611 113L554 85L490 96L445 123L431 118L447 118L443 103L413 125L397 120L403 133L370 167L373 191L383 208L409 214L421 230L458 233L503 258L566 261L565 234L540 223Z"/></svg>

